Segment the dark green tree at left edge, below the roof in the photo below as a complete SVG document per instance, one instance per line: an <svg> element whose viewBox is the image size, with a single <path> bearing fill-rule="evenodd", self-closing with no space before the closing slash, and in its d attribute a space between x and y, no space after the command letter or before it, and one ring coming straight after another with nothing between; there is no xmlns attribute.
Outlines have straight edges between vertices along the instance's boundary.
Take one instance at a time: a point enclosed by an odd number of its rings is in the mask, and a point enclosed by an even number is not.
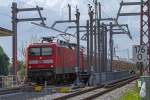
<svg viewBox="0 0 150 100"><path fill-rule="evenodd" d="M3 48L0 46L0 75L9 74L9 57L3 51Z"/></svg>

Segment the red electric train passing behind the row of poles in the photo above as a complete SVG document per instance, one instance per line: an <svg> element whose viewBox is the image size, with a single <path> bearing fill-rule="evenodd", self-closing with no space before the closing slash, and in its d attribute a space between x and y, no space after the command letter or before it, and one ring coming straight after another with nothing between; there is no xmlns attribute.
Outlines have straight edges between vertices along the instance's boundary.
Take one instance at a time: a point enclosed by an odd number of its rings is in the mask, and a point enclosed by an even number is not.
<svg viewBox="0 0 150 100"><path fill-rule="evenodd" d="M50 41L30 44L26 49L27 79L32 82L47 81L49 84L73 82L76 79L76 58L74 43ZM116 64L118 61L113 66ZM80 73L89 74L83 49L80 49ZM88 80L87 77L85 79Z"/></svg>

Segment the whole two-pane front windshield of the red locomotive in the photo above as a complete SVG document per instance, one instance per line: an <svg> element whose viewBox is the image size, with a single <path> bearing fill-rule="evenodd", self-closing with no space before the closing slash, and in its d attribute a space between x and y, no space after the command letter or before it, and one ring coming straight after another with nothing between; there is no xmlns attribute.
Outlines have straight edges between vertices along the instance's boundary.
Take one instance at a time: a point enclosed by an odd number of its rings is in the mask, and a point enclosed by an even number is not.
<svg viewBox="0 0 150 100"><path fill-rule="evenodd" d="M52 48L50 47L34 47L29 49L29 56L50 56L52 55Z"/></svg>

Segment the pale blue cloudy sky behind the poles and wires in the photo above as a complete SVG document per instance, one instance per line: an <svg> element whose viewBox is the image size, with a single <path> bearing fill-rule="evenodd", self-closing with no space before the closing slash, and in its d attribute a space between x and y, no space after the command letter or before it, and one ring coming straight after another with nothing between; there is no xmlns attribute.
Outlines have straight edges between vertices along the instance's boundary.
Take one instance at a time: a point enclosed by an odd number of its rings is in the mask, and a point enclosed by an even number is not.
<svg viewBox="0 0 150 100"><path fill-rule="evenodd" d="M18 8L30 8L36 5L43 7L42 16L46 17L46 24L51 26L56 20L65 20L68 18L68 3L72 6L72 18L75 18L75 9L79 8L81 12L81 25L85 25L88 19L88 4L93 5L93 0L0 0L0 27L11 29L11 5L12 2L17 2ZM116 17L119 9L119 3L121 0L99 0L102 5L102 17ZM124 0L128 1L128 0ZM130 0L137 1L137 0ZM137 12L140 8L123 7L122 12ZM37 11L23 12L18 14L18 18L38 17ZM132 45L139 43L140 36L140 17L120 17L119 23L129 24L129 29L133 40L128 39L126 35L115 35L115 46L118 47L117 55L122 58L128 57L128 49L130 51L129 56L132 57ZM60 29L65 29L67 25L58 25ZM70 31L74 32L74 30ZM32 25L30 22L18 23L18 58L23 59L21 52L22 48L25 48L31 40L38 41L43 36L55 36L58 32L45 29ZM85 42L82 42L84 45ZM0 37L0 46L4 48L7 55L12 58L12 39L11 37Z"/></svg>

